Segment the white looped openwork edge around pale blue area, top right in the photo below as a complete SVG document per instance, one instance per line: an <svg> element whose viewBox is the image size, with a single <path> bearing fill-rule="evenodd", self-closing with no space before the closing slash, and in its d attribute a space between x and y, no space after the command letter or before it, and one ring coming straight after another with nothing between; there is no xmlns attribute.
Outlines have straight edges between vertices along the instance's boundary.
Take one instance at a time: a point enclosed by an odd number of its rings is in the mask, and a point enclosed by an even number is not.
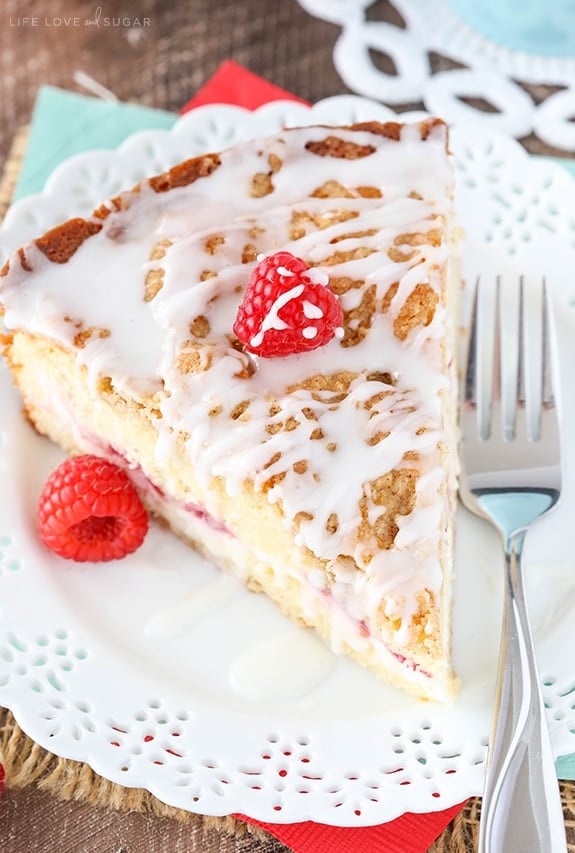
<svg viewBox="0 0 575 853"><path fill-rule="evenodd" d="M531 56L496 45L466 26L448 0L392 0L405 29L368 20L375 0L298 2L342 28L334 64L353 92L390 106L422 102L450 124L479 121L516 138L534 133L547 145L575 149L575 57ZM396 73L378 69L370 51L389 56ZM431 52L466 67L432 74ZM562 88L536 104L517 81ZM483 99L496 111L486 112L467 99Z"/></svg>

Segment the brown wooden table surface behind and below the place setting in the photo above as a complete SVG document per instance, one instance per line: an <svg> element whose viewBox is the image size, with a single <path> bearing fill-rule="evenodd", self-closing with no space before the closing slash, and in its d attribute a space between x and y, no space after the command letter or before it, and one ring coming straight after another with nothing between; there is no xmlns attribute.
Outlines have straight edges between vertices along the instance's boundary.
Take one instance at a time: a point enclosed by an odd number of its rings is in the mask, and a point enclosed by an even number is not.
<svg viewBox="0 0 575 853"><path fill-rule="evenodd" d="M229 58L309 101L349 91L332 60L339 28L311 17L295 0L109 0L102 4L96 0L35 4L2 0L0 8L2 161L15 133L30 119L38 87L49 83L82 91L75 82L78 71L122 100L173 111ZM381 0L369 14L398 23L393 7ZM64 15L76 18L78 24L63 25ZM132 26L124 21L106 27L103 16L138 21ZM439 56L432 57L432 64L436 69L451 65ZM390 71L385 57L379 57L379 65ZM543 87L530 91L536 98L545 94ZM523 142L528 150L554 153L533 138ZM279 853L285 849L271 839L235 838L177 820L62 802L35 787L9 790L0 801L2 853Z"/></svg>

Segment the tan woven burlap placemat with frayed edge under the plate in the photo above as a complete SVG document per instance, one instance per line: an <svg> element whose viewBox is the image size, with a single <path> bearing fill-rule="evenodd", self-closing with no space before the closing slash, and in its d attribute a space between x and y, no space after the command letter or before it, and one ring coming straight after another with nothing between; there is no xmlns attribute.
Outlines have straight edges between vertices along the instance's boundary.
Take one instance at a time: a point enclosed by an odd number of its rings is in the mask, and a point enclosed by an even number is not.
<svg viewBox="0 0 575 853"><path fill-rule="evenodd" d="M0 221L10 204L26 150L28 129L16 135L0 178ZM167 806L153 794L140 788L124 788L95 773L87 764L59 758L34 743L16 723L10 711L0 708L0 763L6 771L6 787L12 789L37 785L63 800L76 800L94 806L135 811L160 818L175 818L191 823L203 822L232 835L250 833L269 838L259 827L234 817L196 815ZM561 782L563 811L567 827L569 853L575 853L575 782ZM449 827L429 848L429 853L471 853L477 846L481 801L468 800Z"/></svg>

